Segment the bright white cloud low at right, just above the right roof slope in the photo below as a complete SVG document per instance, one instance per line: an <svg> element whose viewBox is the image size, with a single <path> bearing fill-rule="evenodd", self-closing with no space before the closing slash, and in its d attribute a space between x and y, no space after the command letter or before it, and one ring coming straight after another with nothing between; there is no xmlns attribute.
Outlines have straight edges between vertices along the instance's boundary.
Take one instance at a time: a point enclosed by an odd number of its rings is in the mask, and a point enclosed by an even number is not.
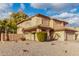
<svg viewBox="0 0 79 59"><path fill-rule="evenodd" d="M52 18L60 18L63 19L67 22L69 22L69 24L77 24L77 26L79 26L79 14L75 14L75 13L68 13L68 12L63 12L59 15L54 15L52 16Z"/></svg>

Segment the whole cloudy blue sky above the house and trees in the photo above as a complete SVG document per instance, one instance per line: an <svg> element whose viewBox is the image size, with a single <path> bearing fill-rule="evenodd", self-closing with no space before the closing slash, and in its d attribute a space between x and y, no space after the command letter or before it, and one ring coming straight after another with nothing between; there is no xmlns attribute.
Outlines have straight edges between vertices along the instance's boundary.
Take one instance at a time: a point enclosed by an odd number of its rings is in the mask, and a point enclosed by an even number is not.
<svg viewBox="0 0 79 59"><path fill-rule="evenodd" d="M22 10L28 16L43 14L69 22L70 26L79 26L78 3L0 3L0 18L9 17L12 12Z"/></svg>

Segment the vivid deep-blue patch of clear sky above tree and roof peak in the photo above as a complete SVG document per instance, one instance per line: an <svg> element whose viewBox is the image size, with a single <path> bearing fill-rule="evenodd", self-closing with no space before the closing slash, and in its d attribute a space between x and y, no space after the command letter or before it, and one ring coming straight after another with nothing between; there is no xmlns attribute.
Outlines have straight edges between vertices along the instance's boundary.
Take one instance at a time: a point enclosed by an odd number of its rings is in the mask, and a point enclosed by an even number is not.
<svg viewBox="0 0 79 59"><path fill-rule="evenodd" d="M29 3L26 3L26 4L15 3L15 4L13 4L13 6L12 6L13 12L18 12L19 9L22 9L22 11L29 16L33 16L38 13L46 15L46 11L44 9L34 8Z"/></svg>

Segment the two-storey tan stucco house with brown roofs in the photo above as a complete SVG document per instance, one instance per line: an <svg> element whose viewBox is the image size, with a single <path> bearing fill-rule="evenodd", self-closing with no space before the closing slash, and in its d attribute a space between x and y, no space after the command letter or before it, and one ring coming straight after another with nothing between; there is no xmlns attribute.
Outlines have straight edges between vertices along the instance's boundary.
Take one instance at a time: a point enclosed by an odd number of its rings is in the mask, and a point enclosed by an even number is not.
<svg viewBox="0 0 79 59"><path fill-rule="evenodd" d="M47 40L75 40L76 30L65 27L66 21L37 14L17 24L17 34L25 34L27 40L38 41L36 32L46 32ZM72 38L72 39L70 39Z"/></svg>

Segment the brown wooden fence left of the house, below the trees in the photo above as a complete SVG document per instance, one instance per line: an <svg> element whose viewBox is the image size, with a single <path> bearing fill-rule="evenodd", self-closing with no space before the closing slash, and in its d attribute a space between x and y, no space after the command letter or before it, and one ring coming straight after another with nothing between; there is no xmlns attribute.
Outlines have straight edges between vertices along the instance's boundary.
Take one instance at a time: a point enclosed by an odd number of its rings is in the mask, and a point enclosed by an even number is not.
<svg viewBox="0 0 79 59"><path fill-rule="evenodd" d="M21 40L21 38L23 38L24 35L23 34L4 34L2 33L0 35L0 40L3 40L3 41L16 41L16 40Z"/></svg>

